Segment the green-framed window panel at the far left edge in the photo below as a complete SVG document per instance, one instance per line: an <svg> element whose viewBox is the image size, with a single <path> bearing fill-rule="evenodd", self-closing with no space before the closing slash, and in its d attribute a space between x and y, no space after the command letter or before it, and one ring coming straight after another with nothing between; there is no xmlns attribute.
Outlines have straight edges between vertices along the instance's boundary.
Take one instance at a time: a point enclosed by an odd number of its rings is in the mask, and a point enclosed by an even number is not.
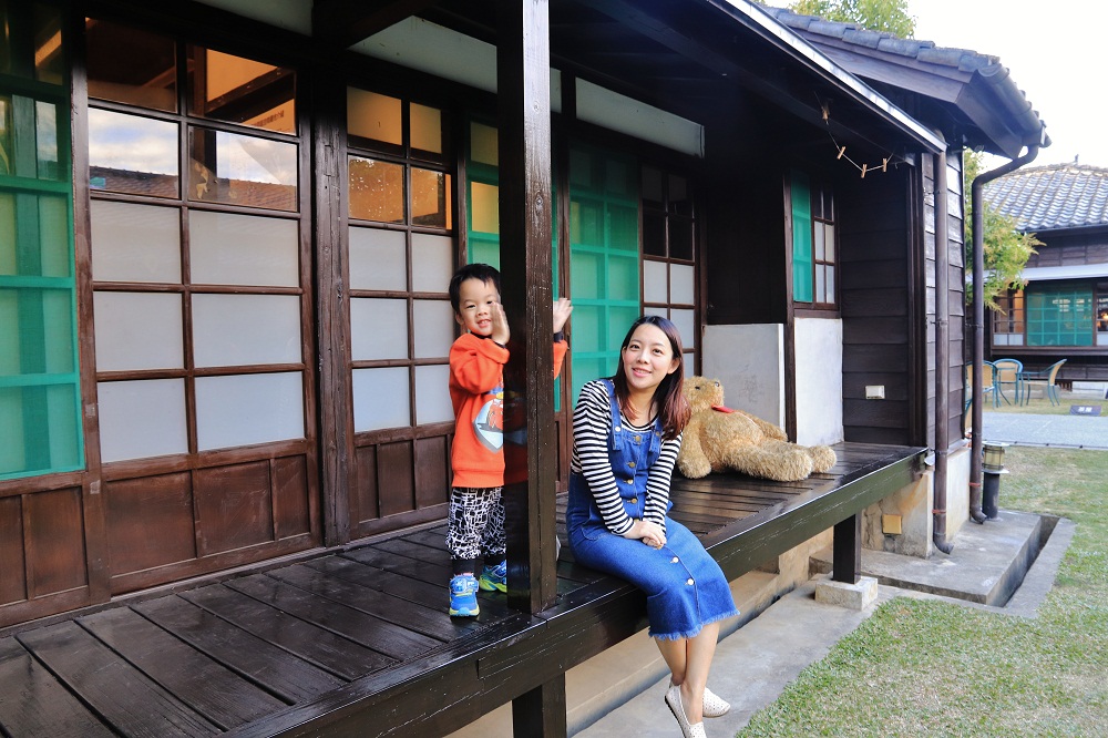
<svg viewBox="0 0 1108 738"><path fill-rule="evenodd" d="M84 468L61 17L0 6L0 480Z"/></svg>

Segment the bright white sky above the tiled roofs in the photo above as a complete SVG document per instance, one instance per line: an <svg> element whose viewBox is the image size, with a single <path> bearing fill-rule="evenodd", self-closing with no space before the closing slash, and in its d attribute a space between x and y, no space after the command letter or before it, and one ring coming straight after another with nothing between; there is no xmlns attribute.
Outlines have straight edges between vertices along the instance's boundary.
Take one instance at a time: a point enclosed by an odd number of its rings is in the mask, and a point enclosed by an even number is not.
<svg viewBox="0 0 1108 738"><path fill-rule="evenodd" d="M789 0L769 0L786 7ZM1030 166L1108 167L1108 2L909 0L915 38L998 57L1046 122L1051 144Z"/></svg>

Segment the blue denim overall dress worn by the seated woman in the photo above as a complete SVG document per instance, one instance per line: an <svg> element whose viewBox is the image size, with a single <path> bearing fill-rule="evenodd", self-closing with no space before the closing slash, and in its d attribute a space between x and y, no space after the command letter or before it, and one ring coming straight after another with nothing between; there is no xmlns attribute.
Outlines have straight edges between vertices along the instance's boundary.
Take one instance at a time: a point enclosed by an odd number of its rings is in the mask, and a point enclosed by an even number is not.
<svg viewBox="0 0 1108 738"><path fill-rule="evenodd" d="M612 383L608 458L624 511L642 519L646 481L661 452L661 427L626 428ZM669 505L671 506L671 504ZM668 512L668 508L667 508ZM570 475L566 508L570 546L578 563L627 580L646 593L649 635L663 640L691 638L709 623L738 615L722 571L700 541L684 525L666 517L666 545L652 549L642 541L608 531L584 474Z"/></svg>

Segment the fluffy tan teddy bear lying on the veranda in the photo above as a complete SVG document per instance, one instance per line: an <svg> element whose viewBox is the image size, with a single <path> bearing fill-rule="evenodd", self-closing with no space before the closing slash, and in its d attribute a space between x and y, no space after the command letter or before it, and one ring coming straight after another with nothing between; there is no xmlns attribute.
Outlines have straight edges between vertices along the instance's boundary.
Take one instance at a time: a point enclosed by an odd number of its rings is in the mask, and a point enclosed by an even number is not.
<svg viewBox="0 0 1108 738"><path fill-rule="evenodd" d="M790 443L773 423L724 407L724 386L718 379L687 377L681 392L693 416L685 427L677 468L690 479L730 470L792 482L834 465L830 448Z"/></svg>

